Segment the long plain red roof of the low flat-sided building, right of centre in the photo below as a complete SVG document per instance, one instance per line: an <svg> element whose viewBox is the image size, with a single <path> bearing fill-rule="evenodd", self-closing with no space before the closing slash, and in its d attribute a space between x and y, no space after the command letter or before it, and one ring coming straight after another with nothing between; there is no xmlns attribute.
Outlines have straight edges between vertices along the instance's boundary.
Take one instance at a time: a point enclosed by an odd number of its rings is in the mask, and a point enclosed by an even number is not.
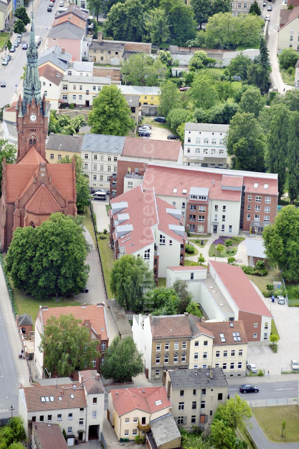
<svg viewBox="0 0 299 449"><path fill-rule="evenodd" d="M263 299L261 299L241 267L215 262L214 260L209 260L209 264L220 277L239 310L272 317L263 303Z"/></svg>

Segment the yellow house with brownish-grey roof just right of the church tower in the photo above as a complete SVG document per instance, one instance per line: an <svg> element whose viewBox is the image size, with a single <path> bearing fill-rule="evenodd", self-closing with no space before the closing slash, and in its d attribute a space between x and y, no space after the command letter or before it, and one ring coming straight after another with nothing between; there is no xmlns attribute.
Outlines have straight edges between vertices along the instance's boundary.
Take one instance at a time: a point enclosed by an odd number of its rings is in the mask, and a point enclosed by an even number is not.
<svg viewBox="0 0 299 449"><path fill-rule="evenodd" d="M83 137L80 134L67 136L63 134L54 134L50 132L46 140L46 158L51 164L58 163L61 159L68 156L70 160L76 155L81 157L81 145Z"/></svg>

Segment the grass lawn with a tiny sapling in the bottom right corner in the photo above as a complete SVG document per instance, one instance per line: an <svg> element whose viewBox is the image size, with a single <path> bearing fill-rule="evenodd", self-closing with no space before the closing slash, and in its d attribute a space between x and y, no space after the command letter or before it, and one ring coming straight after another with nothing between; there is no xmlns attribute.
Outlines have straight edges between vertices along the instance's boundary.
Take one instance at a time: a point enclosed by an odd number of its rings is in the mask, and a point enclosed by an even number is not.
<svg viewBox="0 0 299 449"><path fill-rule="evenodd" d="M274 443L299 442L298 405L256 407L253 414L268 440ZM281 438L281 423L284 420L286 420L286 438Z"/></svg>

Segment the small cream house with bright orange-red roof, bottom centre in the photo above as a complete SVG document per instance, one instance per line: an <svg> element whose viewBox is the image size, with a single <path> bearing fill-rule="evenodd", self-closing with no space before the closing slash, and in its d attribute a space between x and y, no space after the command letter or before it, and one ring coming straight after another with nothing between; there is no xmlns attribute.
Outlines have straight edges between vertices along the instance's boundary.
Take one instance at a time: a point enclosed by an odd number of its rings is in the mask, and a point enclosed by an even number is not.
<svg viewBox="0 0 299 449"><path fill-rule="evenodd" d="M142 437L150 430L151 421L170 411L165 387L125 388L108 393L107 416L121 442Z"/></svg>

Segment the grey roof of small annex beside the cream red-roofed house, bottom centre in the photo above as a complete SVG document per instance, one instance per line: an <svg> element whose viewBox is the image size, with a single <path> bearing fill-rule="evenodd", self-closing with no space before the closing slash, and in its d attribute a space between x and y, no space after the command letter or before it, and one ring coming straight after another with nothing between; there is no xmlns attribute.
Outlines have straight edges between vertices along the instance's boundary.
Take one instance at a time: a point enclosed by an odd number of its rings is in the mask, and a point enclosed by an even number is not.
<svg viewBox="0 0 299 449"><path fill-rule="evenodd" d="M160 416L151 422L152 436L154 437L157 447L165 445L170 441L180 438L180 431L174 421L172 414Z"/></svg>

